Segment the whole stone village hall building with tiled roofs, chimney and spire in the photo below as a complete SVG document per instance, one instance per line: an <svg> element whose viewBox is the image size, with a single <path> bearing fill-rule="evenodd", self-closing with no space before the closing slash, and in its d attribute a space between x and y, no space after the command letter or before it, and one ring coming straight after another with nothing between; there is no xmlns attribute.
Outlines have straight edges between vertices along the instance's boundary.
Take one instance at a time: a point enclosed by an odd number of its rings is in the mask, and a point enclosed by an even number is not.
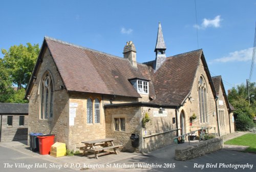
<svg viewBox="0 0 256 172"><path fill-rule="evenodd" d="M132 41L121 58L45 37L26 93L29 132L55 134L69 149L84 140L116 138L130 151L130 136L138 134L137 150L146 152L198 127L221 130L203 51L166 57L165 50L160 23L155 60L145 63L136 61Z"/></svg>

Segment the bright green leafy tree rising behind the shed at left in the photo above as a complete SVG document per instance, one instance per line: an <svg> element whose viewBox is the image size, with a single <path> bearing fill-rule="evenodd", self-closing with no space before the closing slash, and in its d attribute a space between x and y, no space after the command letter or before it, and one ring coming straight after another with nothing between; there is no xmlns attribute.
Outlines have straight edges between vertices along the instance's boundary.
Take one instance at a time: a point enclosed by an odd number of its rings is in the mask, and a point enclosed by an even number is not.
<svg viewBox="0 0 256 172"><path fill-rule="evenodd" d="M11 46L9 51L2 49L3 63L18 90L26 88L39 54L39 45Z"/></svg>

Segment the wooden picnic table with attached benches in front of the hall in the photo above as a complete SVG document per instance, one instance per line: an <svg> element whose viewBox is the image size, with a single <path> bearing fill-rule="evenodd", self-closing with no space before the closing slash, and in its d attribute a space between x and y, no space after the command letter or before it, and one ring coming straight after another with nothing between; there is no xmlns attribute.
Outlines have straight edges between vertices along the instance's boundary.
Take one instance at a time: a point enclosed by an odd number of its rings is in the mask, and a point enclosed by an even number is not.
<svg viewBox="0 0 256 172"><path fill-rule="evenodd" d="M82 156L86 154L86 152L94 153L97 159L97 154L99 152L103 152L105 149L114 149L115 154L117 154L116 148L121 147L121 144L114 145L113 141L116 139L112 138L105 138L105 139L98 139L98 140L89 140L89 141L82 141L85 144L83 147L79 147L80 150L83 150Z"/></svg>

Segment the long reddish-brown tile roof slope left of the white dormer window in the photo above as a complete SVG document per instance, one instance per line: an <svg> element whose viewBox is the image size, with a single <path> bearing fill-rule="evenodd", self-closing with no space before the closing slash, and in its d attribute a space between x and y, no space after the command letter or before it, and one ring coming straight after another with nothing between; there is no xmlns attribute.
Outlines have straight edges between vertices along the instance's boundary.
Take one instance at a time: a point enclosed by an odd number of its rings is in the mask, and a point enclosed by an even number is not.
<svg viewBox="0 0 256 172"><path fill-rule="evenodd" d="M140 97L129 79L152 80L146 65L138 63L136 69L124 58L49 37L45 40L68 91ZM150 93L154 96L153 85Z"/></svg>

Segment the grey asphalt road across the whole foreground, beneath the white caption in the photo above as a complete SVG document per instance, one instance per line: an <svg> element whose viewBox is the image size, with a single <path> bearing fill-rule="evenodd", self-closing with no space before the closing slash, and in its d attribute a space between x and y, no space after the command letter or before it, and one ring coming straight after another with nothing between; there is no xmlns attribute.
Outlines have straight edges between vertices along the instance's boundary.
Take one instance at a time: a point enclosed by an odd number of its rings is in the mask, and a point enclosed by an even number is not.
<svg viewBox="0 0 256 172"><path fill-rule="evenodd" d="M166 151L166 152L165 152ZM35 158L0 146L0 171L75 171L65 168L62 164ZM86 164L86 163L85 163ZM93 164L90 168L93 167ZM242 168L241 168L241 165ZM89 167L89 166L88 166ZM236 169L237 167L237 169ZM77 170L79 170L77 168ZM76 171L77 171L76 170ZM170 158L166 149L160 149L148 155L120 160L111 164L104 164L99 168L82 171L256 171L256 154L221 149L188 161L177 161Z"/></svg>

